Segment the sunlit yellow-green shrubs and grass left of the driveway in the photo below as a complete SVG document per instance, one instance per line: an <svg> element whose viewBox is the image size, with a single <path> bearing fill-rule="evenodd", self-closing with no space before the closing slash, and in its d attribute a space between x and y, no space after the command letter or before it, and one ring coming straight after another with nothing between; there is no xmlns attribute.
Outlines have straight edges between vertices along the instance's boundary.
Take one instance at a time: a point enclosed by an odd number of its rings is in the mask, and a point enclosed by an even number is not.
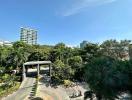
<svg viewBox="0 0 132 100"><path fill-rule="evenodd" d="M7 69L0 67L0 98L17 90L20 86L20 76L8 74Z"/></svg>

